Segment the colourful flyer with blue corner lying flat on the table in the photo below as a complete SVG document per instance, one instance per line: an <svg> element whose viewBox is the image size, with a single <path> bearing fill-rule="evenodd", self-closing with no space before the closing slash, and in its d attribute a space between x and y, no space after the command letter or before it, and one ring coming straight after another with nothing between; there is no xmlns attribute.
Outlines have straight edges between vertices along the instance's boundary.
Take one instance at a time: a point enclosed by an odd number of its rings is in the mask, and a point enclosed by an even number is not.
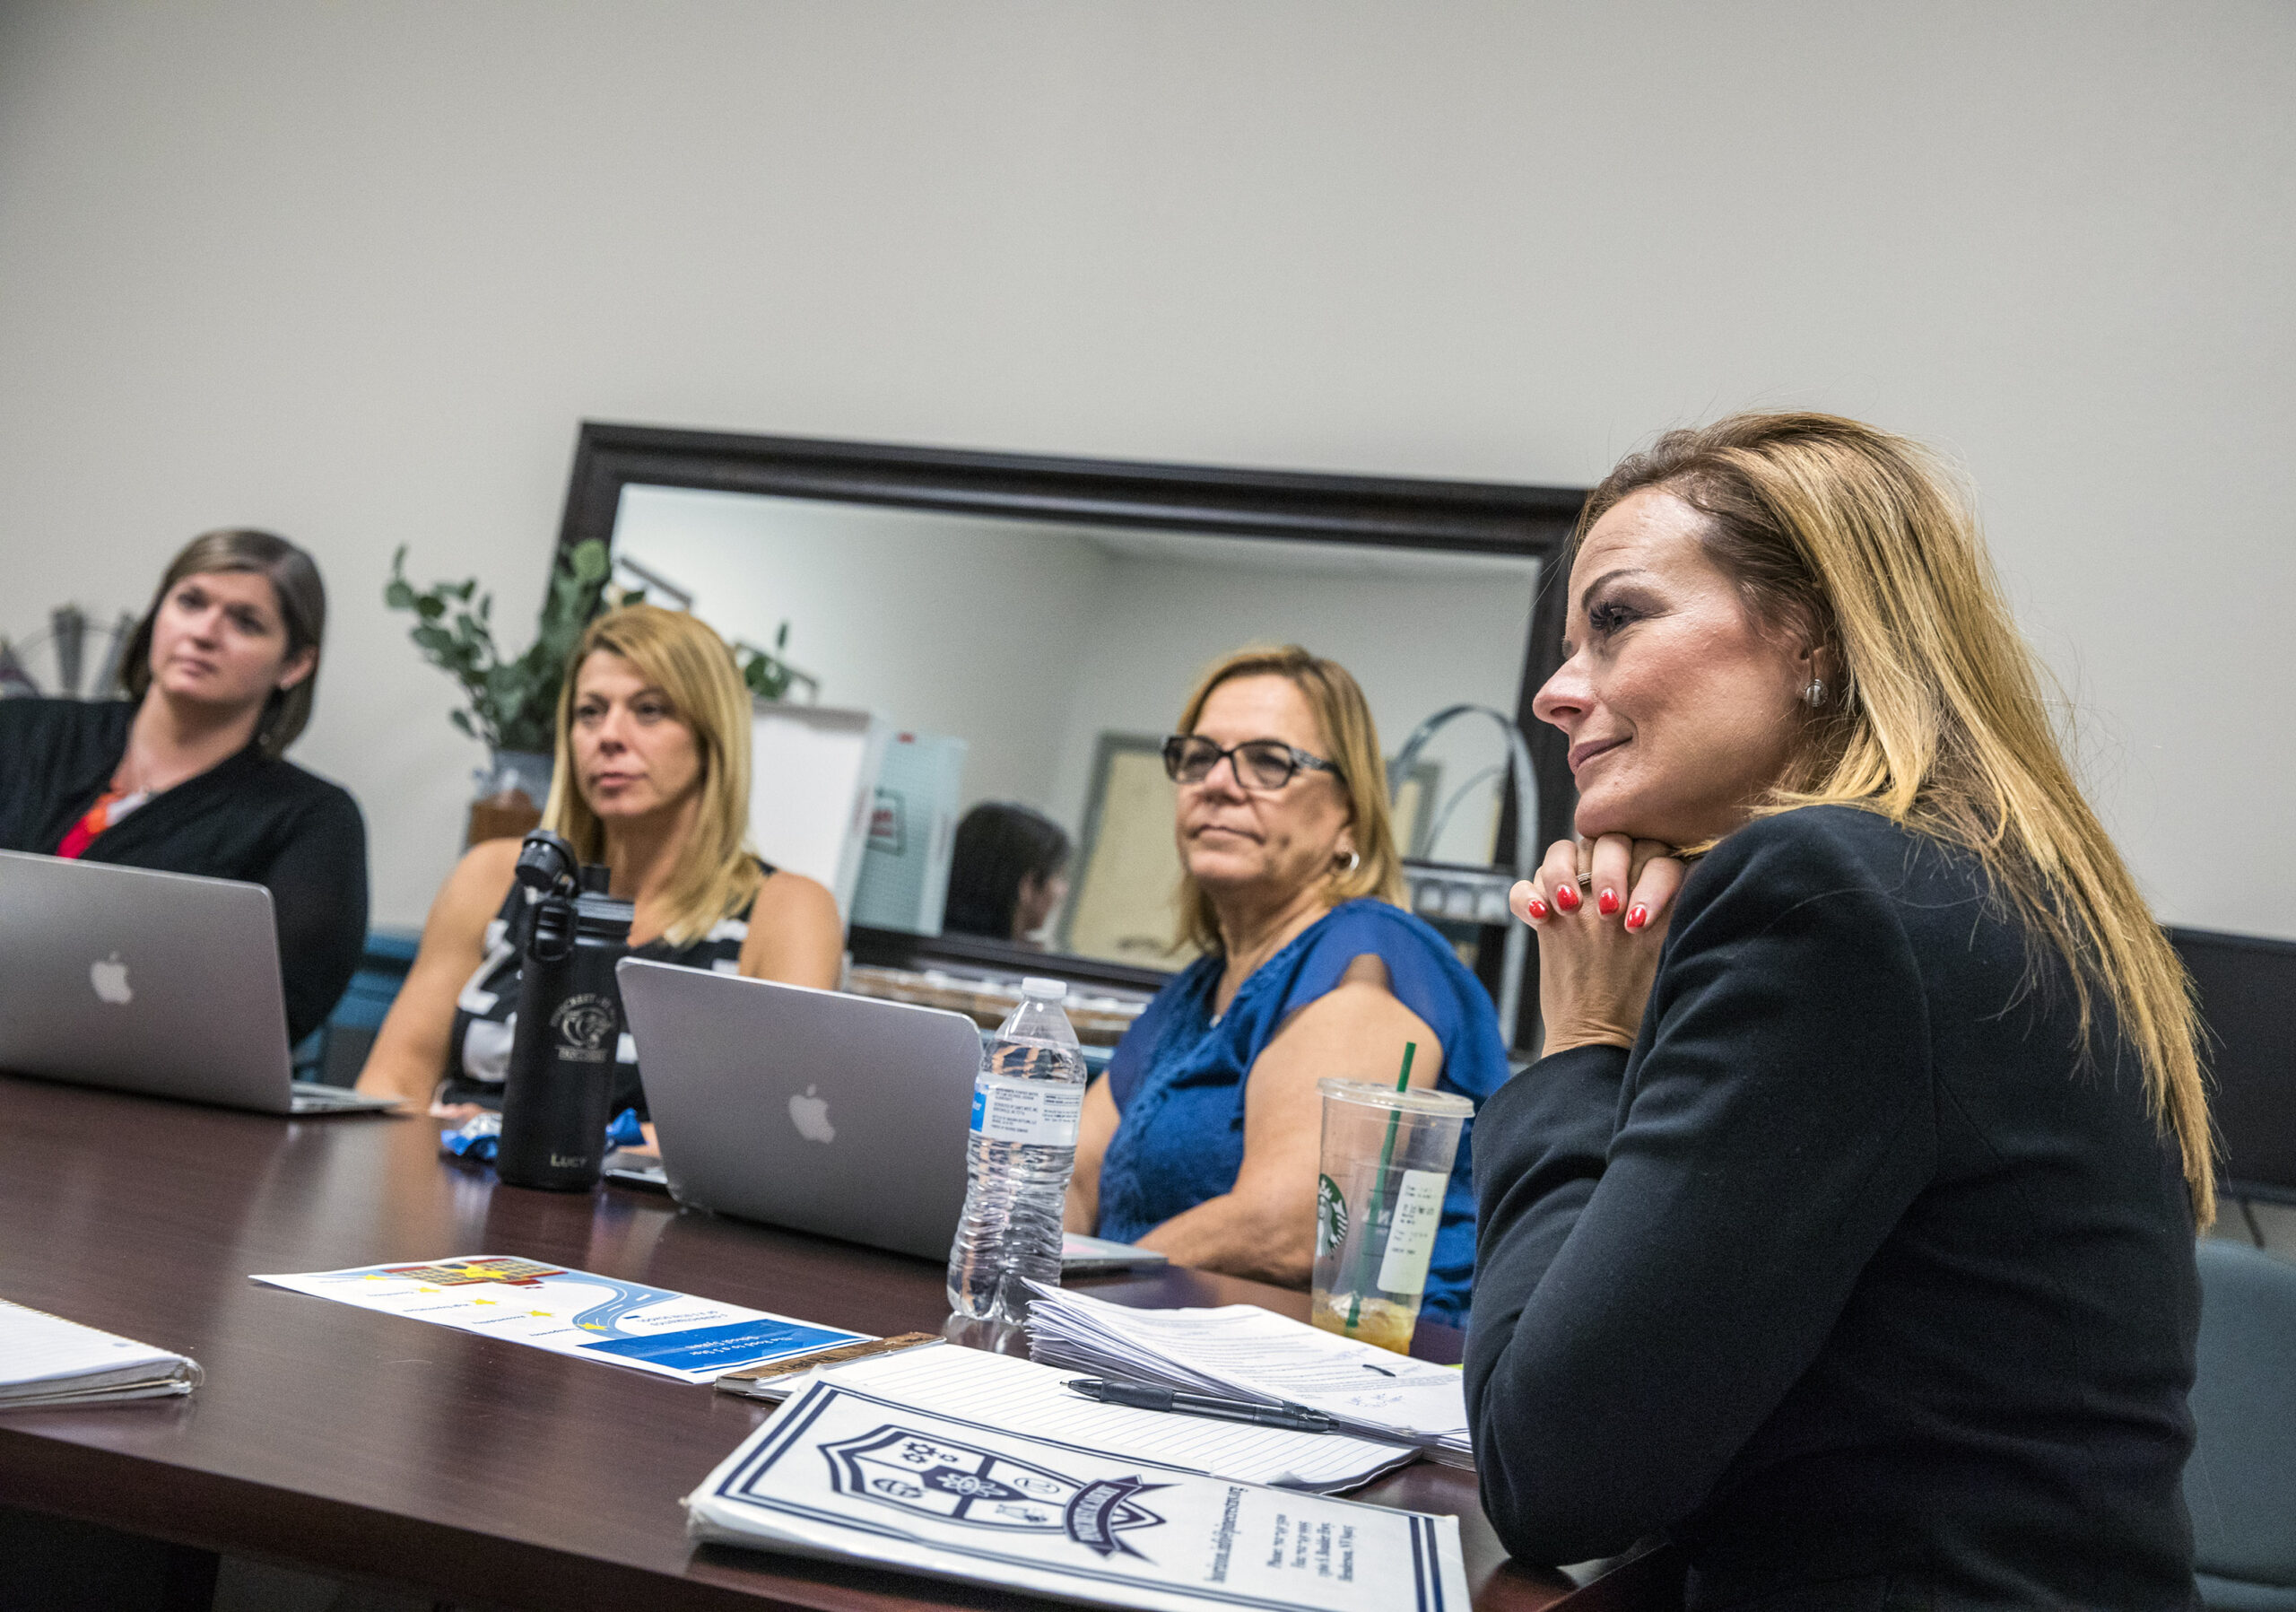
<svg viewBox="0 0 2296 1612"><path fill-rule="evenodd" d="M634 1366L680 1382L714 1382L742 1366L866 1336L507 1254L457 1254L427 1265L356 1265L253 1281L556 1355Z"/></svg>

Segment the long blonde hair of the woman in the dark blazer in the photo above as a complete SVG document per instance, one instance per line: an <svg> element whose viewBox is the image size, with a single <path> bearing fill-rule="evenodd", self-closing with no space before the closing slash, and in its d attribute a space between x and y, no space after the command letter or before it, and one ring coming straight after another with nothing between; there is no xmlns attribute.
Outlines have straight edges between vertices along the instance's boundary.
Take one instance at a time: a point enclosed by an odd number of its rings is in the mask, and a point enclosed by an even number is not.
<svg viewBox="0 0 2296 1612"><path fill-rule="evenodd" d="M1646 487L1706 514L1706 551L1756 620L1839 657L1800 774L1763 811L1857 806L1970 852L2027 946L2064 960L2082 1056L2105 992L2183 1153L2193 1212L2216 1219L2190 981L2082 799L1956 478L1857 420L1738 413L1626 457L1587 498L1580 537Z"/></svg>

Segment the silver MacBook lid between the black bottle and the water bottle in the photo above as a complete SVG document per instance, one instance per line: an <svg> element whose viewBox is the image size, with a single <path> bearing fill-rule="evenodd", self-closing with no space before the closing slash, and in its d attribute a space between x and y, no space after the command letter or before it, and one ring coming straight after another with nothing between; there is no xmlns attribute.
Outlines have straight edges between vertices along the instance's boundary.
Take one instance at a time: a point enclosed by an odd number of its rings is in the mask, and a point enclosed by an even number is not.
<svg viewBox="0 0 2296 1612"><path fill-rule="evenodd" d="M622 960L680 1203L948 1258L980 1031L962 1013Z"/></svg>

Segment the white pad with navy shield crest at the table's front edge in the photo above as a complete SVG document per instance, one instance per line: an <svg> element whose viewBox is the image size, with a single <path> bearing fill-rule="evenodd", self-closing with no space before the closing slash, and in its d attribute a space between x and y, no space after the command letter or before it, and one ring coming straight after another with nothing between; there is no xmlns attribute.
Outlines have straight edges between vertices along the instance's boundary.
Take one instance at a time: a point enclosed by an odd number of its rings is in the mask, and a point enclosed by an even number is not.
<svg viewBox="0 0 2296 1612"><path fill-rule="evenodd" d="M696 1539L1120 1607L1467 1612L1458 1518L1226 1479L815 1378L687 1495Z"/></svg>

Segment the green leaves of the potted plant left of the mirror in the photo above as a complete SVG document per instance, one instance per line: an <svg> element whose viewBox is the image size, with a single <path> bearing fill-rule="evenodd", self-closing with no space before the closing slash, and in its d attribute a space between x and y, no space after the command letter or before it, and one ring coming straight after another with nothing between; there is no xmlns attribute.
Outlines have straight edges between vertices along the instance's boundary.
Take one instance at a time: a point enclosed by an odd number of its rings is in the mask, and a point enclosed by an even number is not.
<svg viewBox="0 0 2296 1612"><path fill-rule="evenodd" d="M473 739L484 739L489 749L546 755L558 737L558 684L565 680L567 657L597 615L611 569L606 544L595 537L560 551L542 599L540 631L512 659L503 659L494 643L494 595L478 592L475 576L416 588L406 581L406 544L390 556L383 604L413 613L416 625L406 636L422 650L422 659L461 684L468 710L450 712L448 721ZM478 595L478 604L471 604L471 595Z"/></svg>

